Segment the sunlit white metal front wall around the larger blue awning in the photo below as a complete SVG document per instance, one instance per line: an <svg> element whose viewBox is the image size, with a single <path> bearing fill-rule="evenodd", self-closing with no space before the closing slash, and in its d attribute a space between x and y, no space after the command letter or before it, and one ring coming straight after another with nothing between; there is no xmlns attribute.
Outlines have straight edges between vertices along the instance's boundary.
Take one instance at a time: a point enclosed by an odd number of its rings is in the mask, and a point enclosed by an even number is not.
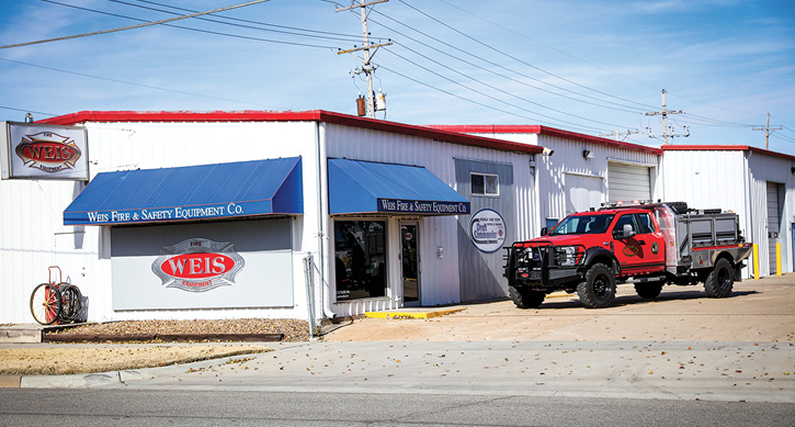
<svg viewBox="0 0 795 427"><path fill-rule="evenodd" d="M296 216L293 277L303 280L307 251L319 259L315 123L87 123L91 175L226 161L302 156L305 214ZM63 226L63 212L77 196L71 181L0 181L1 322L32 322L35 284L57 265L88 297L90 321L127 318L305 318L306 291L295 286L295 307L113 312L111 239L107 227ZM75 233L78 234L75 234ZM81 232L84 232L82 234ZM296 281L298 283L298 281Z"/></svg>

